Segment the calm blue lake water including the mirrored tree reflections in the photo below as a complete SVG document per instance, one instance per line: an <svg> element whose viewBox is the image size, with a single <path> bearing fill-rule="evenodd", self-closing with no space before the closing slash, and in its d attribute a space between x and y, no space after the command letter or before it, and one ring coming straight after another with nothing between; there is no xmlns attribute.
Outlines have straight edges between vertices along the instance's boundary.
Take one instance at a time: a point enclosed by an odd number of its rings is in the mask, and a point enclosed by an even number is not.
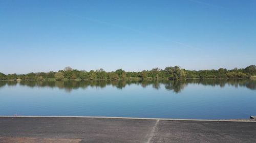
<svg viewBox="0 0 256 143"><path fill-rule="evenodd" d="M0 115L248 119L256 80L0 81Z"/></svg>

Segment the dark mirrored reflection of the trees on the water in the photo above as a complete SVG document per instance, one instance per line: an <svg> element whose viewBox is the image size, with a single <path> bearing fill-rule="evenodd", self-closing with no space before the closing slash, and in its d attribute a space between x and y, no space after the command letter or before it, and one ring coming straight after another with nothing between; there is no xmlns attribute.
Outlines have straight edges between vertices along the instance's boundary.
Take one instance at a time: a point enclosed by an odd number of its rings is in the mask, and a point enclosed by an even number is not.
<svg viewBox="0 0 256 143"><path fill-rule="evenodd" d="M123 89L126 85L136 84L143 88L147 86L152 86L154 89L159 90L161 85L164 88L175 93L181 92L188 84L201 84L205 86L219 86L225 87L226 85L231 85L233 87L246 87L250 90L256 90L256 80L251 79L187 79L187 80L90 80L90 81L0 81L0 88L5 85L15 86L22 85L27 87L50 87L63 89L66 92L71 92L72 90L81 88L86 89L88 87L105 88L106 86L112 85L117 89Z"/></svg>

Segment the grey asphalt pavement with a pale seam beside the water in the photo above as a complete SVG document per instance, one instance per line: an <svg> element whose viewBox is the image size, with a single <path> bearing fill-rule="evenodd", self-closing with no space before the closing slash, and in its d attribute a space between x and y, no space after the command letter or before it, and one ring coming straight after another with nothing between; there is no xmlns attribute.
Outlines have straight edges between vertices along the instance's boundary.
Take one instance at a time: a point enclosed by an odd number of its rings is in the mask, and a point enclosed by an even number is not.
<svg viewBox="0 0 256 143"><path fill-rule="evenodd" d="M256 142L256 122L0 117L0 142Z"/></svg>

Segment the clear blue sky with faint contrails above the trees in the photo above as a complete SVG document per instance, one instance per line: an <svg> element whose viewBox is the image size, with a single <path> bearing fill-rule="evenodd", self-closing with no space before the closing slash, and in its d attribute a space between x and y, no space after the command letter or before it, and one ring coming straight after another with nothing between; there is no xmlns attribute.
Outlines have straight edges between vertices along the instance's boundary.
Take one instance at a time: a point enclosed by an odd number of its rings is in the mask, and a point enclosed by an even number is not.
<svg viewBox="0 0 256 143"><path fill-rule="evenodd" d="M256 65L255 0L3 1L0 72Z"/></svg>

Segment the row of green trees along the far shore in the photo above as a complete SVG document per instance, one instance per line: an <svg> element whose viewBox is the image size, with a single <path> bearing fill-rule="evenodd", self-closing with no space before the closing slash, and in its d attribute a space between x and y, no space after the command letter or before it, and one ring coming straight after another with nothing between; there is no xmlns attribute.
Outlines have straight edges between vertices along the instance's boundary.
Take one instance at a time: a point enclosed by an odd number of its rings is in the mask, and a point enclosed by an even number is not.
<svg viewBox="0 0 256 143"><path fill-rule="evenodd" d="M179 66L166 67L164 69L154 68L139 72L129 72L118 69L112 72L99 70L76 70L66 67L58 72L37 72L28 74L4 74L0 72L0 80L121 80L121 79L191 79L191 78L249 78L256 76L256 66L246 68L234 68L227 70L185 70Z"/></svg>

